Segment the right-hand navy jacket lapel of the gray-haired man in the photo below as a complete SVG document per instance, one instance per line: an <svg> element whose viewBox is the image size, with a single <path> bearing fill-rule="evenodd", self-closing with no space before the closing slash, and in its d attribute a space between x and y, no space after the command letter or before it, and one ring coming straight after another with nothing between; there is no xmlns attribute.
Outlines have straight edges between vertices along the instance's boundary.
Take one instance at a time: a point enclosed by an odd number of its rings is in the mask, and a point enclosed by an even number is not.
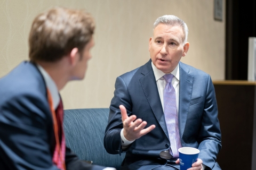
<svg viewBox="0 0 256 170"><path fill-rule="evenodd" d="M191 101L194 77L189 75L188 67L179 63L180 65L180 91L179 91L179 130L180 138L182 140L183 132L188 116L188 108Z"/></svg>

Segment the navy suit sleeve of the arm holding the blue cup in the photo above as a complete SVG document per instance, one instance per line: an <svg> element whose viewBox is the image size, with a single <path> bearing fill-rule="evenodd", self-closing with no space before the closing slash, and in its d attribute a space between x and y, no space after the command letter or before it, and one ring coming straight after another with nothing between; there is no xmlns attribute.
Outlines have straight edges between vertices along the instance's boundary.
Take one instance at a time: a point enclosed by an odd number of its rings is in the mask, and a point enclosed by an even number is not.
<svg viewBox="0 0 256 170"><path fill-rule="evenodd" d="M198 134L199 158L203 160L204 165L212 168L221 149L221 132L217 101L210 76L208 76L201 129Z"/></svg>

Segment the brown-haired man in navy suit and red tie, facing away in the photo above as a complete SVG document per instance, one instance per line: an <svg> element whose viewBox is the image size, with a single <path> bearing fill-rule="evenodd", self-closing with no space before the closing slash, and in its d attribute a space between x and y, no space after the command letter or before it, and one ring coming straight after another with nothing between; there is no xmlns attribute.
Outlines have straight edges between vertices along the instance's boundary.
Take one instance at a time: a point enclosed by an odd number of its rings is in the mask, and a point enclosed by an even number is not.
<svg viewBox="0 0 256 170"><path fill-rule="evenodd" d="M35 18L30 61L0 79L0 169L105 168L79 160L65 146L61 126L59 90L84 78L93 32L84 11L53 8Z"/></svg>

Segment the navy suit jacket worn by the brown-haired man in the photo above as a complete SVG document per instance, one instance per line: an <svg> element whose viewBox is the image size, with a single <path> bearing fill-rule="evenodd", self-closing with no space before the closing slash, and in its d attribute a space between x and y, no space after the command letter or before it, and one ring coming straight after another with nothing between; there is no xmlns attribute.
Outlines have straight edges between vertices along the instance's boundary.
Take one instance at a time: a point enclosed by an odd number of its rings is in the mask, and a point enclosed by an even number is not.
<svg viewBox="0 0 256 170"><path fill-rule="evenodd" d="M44 79L23 62L0 79L0 169L58 169L52 163L55 138ZM67 169L103 169L78 160L66 148Z"/></svg>

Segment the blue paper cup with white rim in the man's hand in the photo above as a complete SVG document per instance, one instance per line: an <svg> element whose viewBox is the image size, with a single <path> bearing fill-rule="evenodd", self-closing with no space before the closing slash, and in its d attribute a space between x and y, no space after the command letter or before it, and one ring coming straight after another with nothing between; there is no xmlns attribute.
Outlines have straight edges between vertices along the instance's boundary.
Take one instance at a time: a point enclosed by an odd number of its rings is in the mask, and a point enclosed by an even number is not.
<svg viewBox="0 0 256 170"><path fill-rule="evenodd" d="M183 147L179 149L180 170L187 170L197 161L199 150L196 148Z"/></svg>

